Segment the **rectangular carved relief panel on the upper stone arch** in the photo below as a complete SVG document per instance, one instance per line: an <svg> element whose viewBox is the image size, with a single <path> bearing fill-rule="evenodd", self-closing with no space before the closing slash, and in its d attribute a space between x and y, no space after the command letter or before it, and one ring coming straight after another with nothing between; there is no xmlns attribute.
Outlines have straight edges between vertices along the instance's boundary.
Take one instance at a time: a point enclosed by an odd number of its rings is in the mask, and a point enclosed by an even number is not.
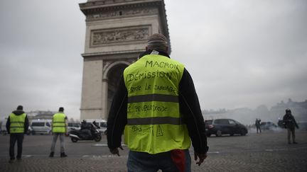
<svg viewBox="0 0 307 172"><path fill-rule="evenodd" d="M133 28L117 28L105 30L92 30L91 45L99 46L110 43L130 42L147 40L149 37L150 26L133 27Z"/></svg>

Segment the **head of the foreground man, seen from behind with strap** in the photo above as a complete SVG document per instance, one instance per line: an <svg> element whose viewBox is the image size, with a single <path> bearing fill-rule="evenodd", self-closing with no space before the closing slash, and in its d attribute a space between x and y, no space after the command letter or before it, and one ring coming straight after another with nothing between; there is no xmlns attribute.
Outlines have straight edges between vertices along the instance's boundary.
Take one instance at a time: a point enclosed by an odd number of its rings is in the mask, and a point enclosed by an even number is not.
<svg viewBox="0 0 307 172"><path fill-rule="evenodd" d="M161 33L155 33L149 37L146 50L157 50L168 52L168 40Z"/></svg>

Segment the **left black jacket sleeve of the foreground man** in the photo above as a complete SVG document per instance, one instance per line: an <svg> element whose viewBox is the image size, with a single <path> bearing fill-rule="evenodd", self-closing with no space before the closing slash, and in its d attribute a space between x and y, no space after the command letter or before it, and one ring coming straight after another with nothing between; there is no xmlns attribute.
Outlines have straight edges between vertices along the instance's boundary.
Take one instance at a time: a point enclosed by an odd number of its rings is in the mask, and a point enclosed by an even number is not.
<svg viewBox="0 0 307 172"><path fill-rule="evenodd" d="M119 86L114 95L109 117L107 120L107 144L109 149L121 146L122 133L126 125L126 110L128 103L128 91L124 84L124 76L119 80Z"/></svg>

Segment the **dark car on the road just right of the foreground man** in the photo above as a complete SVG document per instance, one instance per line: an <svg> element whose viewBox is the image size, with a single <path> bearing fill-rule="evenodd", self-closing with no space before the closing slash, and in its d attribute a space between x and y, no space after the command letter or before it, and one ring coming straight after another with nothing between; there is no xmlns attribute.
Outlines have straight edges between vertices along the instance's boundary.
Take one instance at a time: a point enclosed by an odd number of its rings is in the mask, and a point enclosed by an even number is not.
<svg viewBox="0 0 307 172"><path fill-rule="evenodd" d="M231 136L241 134L244 136L247 134L247 127L232 119L205 120L205 125L208 137L211 134L216 136L222 136L222 134L230 134Z"/></svg>

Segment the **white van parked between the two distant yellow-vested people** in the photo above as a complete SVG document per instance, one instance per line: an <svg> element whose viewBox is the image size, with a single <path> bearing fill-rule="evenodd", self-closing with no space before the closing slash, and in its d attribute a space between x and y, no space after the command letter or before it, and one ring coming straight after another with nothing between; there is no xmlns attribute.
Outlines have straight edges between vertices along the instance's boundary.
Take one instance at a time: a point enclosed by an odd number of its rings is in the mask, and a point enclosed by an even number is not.
<svg viewBox="0 0 307 172"><path fill-rule="evenodd" d="M51 134L52 120L32 120L32 134Z"/></svg>

